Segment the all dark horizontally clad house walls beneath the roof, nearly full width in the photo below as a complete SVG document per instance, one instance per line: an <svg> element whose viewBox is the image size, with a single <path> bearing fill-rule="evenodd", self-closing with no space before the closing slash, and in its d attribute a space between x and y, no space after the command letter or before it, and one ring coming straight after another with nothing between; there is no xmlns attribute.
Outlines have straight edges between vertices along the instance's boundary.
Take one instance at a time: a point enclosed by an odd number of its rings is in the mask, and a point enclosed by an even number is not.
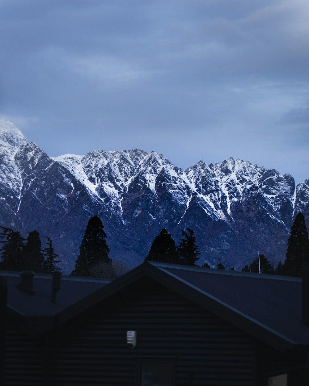
<svg viewBox="0 0 309 386"><path fill-rule="evenodd" d="M128 330L137 331L134 349ZM5 386L133 386L147 358L173 361L177 386L255 386L294 357L148 278L36 339L9 320Z"/></svg>

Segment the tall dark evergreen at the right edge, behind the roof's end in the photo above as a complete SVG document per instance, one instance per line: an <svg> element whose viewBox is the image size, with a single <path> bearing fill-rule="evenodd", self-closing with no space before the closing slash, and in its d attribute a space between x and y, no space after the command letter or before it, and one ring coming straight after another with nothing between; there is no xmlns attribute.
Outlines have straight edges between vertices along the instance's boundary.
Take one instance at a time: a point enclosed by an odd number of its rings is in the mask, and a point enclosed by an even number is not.
<svg viewBox="0 0 309 386"><path fill-rule="evenodd" d="M309 261L309 242L304 215L299 212L291 227L290 237L287 240L287 253L283 266L287 276L301 277L302 264Z"/></svg>

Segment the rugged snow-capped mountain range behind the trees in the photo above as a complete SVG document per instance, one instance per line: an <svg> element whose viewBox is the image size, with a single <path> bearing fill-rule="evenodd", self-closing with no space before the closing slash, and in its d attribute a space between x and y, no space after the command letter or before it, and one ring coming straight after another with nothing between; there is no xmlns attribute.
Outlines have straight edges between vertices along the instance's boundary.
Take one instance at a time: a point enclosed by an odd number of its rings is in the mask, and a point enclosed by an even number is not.
<svg viewBox="0 0 309 386"><path fill-rule="evenodd" d="M285 258L293 217L309 220L309 179L241 159L184 171L162 154L140 149L95 150L50 158L11 123L0 124L0 225L51 237L70 272L90 217L98 214L110 257L143 261L165 227L178 243L194 230L199 263L239 268L257 251L275 264Z"/></svg>

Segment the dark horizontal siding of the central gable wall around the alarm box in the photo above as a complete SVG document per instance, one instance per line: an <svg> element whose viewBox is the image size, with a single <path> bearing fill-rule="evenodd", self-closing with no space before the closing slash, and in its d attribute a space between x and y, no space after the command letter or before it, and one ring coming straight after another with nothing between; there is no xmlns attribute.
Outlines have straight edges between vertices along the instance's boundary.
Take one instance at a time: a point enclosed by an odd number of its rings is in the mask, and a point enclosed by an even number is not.
<svg viewBox="0 0 309 386"><path fill-rule="evenodd" d="M136 291L137 289L137 291ZM140 358L175 359L176 385L252 386L253 338L156 284L126 288L59 330L49 355L49 384L136 384ZM126 345L127 330L137 346Z"/></svg>

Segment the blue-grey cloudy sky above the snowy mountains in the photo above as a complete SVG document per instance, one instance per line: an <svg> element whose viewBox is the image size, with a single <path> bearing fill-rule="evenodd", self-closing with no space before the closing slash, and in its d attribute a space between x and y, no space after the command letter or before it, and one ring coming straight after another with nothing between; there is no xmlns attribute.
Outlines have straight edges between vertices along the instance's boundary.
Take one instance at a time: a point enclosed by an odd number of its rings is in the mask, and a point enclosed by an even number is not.
<svg viewBox="0 0 309 386"><path fill-rule="evenodd" d="M309 178L308 0L1 0L0 119L49 156L141 148Z"/></svg>

